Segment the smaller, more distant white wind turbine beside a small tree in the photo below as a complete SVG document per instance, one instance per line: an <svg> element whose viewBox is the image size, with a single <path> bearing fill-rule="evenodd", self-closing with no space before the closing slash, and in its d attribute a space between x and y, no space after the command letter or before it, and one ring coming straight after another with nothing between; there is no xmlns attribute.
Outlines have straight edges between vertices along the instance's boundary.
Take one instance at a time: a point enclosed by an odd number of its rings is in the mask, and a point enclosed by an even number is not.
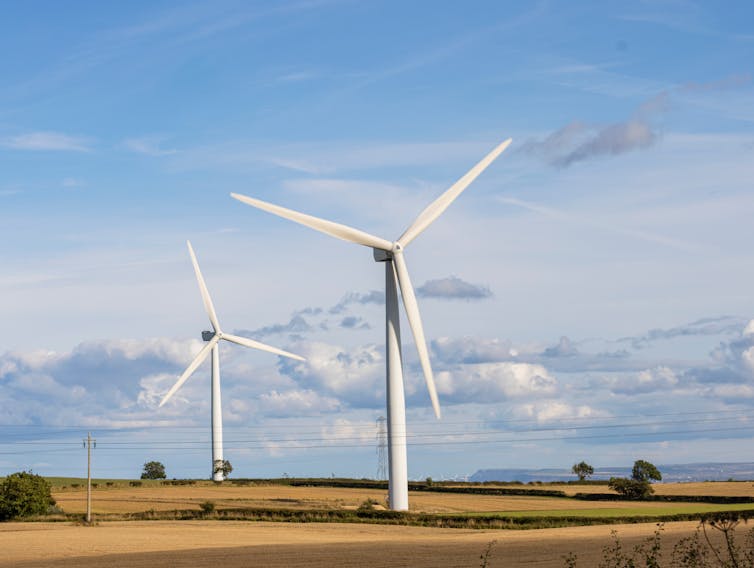
<svg viewBox="0 0 754 568"><path fill-rule="evenodd" d="M199 263L196 261L196 255L194 249L191 247L191 242L186 241L189 248L189 255L191 255L191 263L194 265L194 272L196 273L196 280L199 283L199 291L202 294L202 301L204 302L204 309L209 316L210 324L212 324L212 331L203 331L202 339L207 342L201 351L194 357L191 364L186 367L183 374L178 381L168 391L168 393L160 402L160 406L165 404L170 397L172 397L176 391L181 388L188 378L196 371L207 358L207 355L212 353L212 479L214 481L222 481L224 476L222 471L218 471L218 465L223 463L223 415L222 415L222 403L220 400L220 349L218 343L221 339L243 345L244 347L251 347L252 349L259 349L260 351L267 351L269 353L275 353L276 355L282 355L283 357L290 357L291 359L298 359L304 361L303 357L288 353L277 347L270 347L264 343L254 341L253 339L247 339L245 337L239 337L238 335L231 335L225 333L220 329L220 322L217 321L217 314L215 313L215 307L212 305L212 299L209 297L209 290L204 283L204 277L201 270L199 270Z"/></svg>

